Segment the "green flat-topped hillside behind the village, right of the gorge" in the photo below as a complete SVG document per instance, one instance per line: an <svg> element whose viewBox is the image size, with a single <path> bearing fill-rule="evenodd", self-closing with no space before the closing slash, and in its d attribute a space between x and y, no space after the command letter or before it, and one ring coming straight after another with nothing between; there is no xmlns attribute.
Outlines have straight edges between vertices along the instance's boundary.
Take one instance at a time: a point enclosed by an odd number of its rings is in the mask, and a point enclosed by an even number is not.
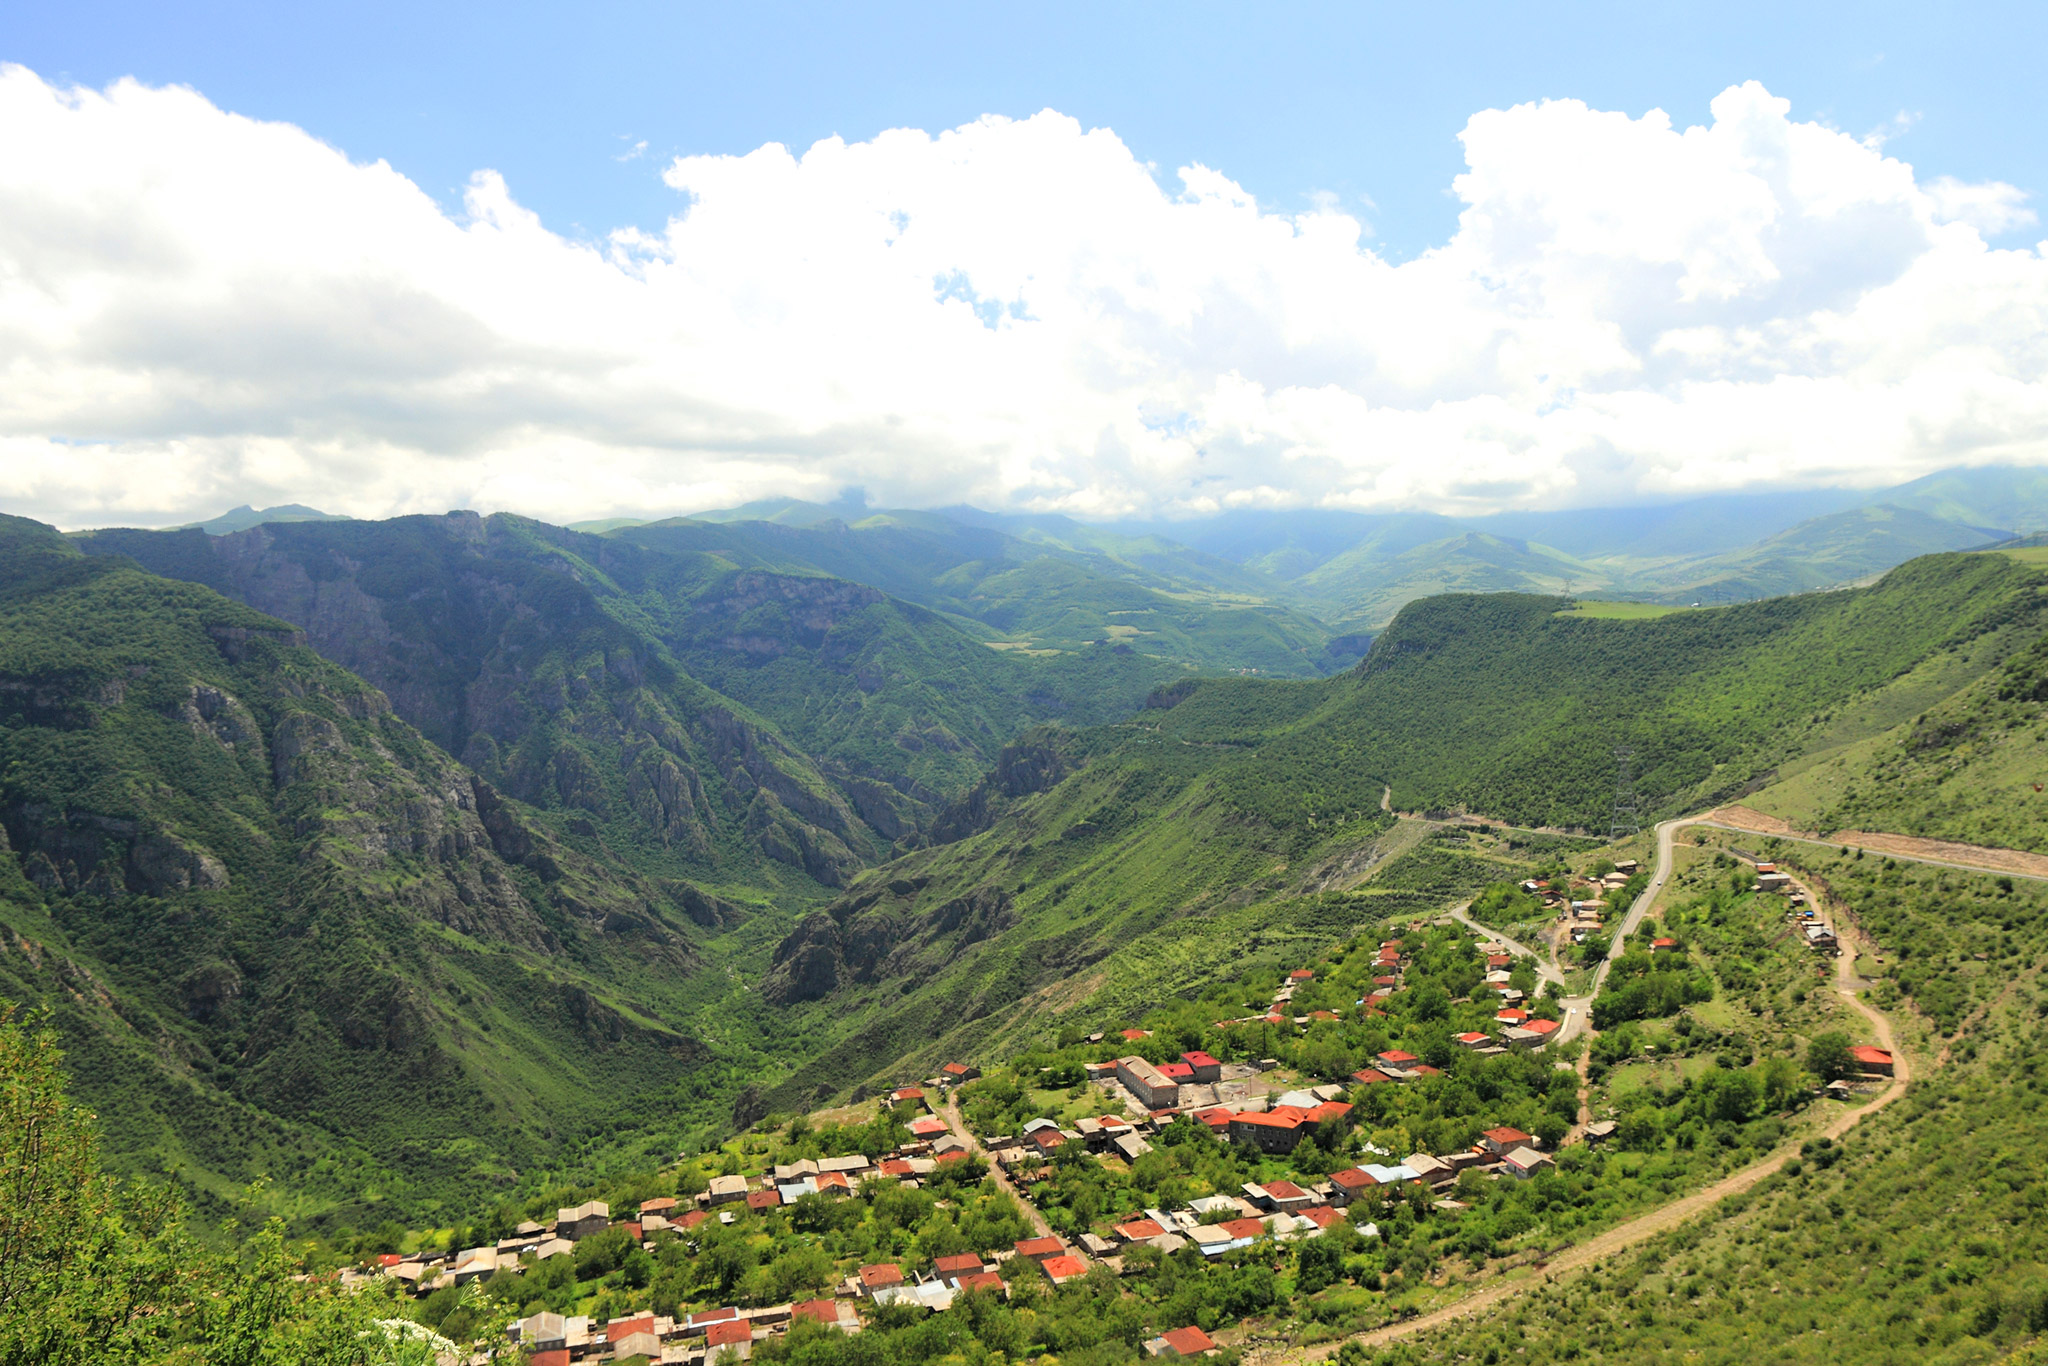
<svg viewBox="0 0 2048 1366"><path fill-rule="evenodd" d="M1655 618L1432 598L1350 676L1186 680L1128 723L1018 745L940 819L944 844L864 874L776 950L772 999L858 1026L774 1100L987 1047L1020 1001L1108 1020L1247 944L1350 934L1427 866L1380 868L1386 788L1395 809L1604 831L1628 743L1645 821L1741 793L1839 743L1837 711L1925 659L1962 659L1942 674L1956 690L2040 637L2044 582L1946 555L1866 590ZM1507 870L1436 879L1430 905Z"/></svg>

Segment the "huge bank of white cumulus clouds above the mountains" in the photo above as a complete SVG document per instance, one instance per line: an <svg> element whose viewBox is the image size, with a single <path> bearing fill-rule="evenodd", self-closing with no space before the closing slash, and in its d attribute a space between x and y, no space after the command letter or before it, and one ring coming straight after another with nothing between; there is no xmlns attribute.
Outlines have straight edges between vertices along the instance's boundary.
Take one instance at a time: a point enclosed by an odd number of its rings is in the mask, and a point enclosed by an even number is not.
<svg viewBox="0 0 2048 1366"><path fill-rule="evenodd" d="M1401 264L1051 111L680 158L664 231L590 244L492 172L449 215L193 90L4 68L0 502L1489 510L2048 459L2011 186L1755 84L1462 141L1458 229Z"/></svg>

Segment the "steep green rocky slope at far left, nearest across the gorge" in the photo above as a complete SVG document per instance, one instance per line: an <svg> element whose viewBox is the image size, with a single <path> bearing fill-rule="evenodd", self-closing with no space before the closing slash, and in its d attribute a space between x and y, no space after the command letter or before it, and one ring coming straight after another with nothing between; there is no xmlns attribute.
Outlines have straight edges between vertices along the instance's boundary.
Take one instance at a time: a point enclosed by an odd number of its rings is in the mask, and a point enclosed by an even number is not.
<svg viewBox="0 0 2048 1366"><path fill-rule="evenodd" d="M717 1075L739 907L559 844L291 625L18 518L0 827L0 995L205 1200L418 1216Z"/></svg>

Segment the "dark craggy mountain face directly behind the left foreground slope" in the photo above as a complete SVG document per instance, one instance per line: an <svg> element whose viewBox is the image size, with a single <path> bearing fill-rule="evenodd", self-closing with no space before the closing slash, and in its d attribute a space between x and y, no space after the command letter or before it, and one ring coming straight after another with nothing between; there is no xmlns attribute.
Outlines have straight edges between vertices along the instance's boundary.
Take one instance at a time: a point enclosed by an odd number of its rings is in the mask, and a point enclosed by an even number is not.
<svg viewBox="0 0 2048 1366"><path fill-rule="evenodd" d="M469 512L227 537L98 532L88 545L301 627L502 793L602 831L649 870L733 877L766 858L838 887L895 838L887 803L850 801L676 661L598 563L633 582L649 565L616 561L643 553ZM823 631L831 610L803 616Z"/></svg>

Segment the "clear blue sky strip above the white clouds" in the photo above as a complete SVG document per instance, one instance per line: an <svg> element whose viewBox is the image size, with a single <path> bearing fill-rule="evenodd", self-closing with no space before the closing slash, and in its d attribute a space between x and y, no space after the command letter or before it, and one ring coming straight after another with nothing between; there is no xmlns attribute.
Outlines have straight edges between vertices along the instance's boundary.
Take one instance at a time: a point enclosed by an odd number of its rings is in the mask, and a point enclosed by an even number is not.
<svg viewBox="0 0 2048 1366"><path fill-rule="evenodd" d="M1335 195L1393 256L1444 242L1456 133L1571 96L1686 125L1759 80L1794 119L1894 129L1923 176L2048 184L2038 4L66 4L0 59L190 84L457 203L479 168L561 233L659 227L678 154L803 150L1059 109L1262 203ZM1896 121L1905 117L1903 125ZM616 160L645 141L647 152Z"/></svg>

